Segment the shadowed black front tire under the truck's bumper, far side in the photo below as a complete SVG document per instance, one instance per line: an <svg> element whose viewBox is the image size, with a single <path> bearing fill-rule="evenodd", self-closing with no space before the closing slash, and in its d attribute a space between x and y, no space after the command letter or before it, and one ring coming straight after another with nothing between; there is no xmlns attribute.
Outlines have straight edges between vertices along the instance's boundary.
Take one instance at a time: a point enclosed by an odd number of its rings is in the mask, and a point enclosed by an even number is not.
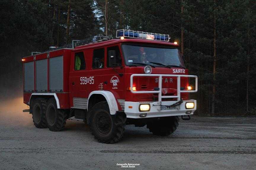
<svg viewBox="0 0 256 170"><path fill-rule="evenodd" d="M178 116L160 117L152 122L148 122L147 128L153 135L168 136L177 129L179 121Z"/></svg>

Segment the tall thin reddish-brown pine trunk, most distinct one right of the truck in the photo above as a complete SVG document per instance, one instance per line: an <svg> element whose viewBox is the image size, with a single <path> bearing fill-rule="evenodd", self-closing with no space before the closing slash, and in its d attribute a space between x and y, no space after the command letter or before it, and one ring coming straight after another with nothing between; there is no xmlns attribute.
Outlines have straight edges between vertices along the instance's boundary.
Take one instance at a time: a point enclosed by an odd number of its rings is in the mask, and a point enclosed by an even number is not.
<svg viewBox="0 0 256 170"><path fill-rule="evenodd" d="M214 0L215 4L215 0ZM215 93L216 93L216 9L214 11L213 24L213 86L212 86L212 115L215 113Z"/></svg>

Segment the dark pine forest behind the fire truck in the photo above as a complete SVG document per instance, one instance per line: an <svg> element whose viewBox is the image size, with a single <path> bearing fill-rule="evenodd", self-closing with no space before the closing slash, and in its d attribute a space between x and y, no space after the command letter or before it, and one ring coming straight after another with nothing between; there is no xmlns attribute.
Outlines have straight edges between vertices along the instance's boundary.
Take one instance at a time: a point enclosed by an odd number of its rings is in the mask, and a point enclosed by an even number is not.
<svg viewBox="0 0 256 170"><path fill-rule="evenodd" d="M169 34L199 76L198 115L256 114L254 0L0 0L1 93L22 91L20 59L117 29Z"/></svg>

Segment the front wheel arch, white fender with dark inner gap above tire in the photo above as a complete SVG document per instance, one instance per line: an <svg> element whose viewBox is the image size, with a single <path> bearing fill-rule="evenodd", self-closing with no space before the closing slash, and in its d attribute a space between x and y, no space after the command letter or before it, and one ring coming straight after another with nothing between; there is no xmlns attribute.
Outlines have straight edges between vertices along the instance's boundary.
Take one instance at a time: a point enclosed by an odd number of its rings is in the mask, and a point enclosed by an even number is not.
<svg viewBox="0 0 256 170"><path fill-rule="evenodd" d="M93 102L92 99L94 97L104 97L105 101L108 103L110 114L111 115L116 114L116 111L118 111L118 105L116 103L116 98L112 92L105 91L105 90L92 91L89 94L88 101L87 101L87 110L88 111L89 111L89 109L91 109L93 107L94 104L96 104L96 103L93 103L93 104L90 103L90 102ZM99 102L104 101L102 99L103 98L100 98Z"/></svg>

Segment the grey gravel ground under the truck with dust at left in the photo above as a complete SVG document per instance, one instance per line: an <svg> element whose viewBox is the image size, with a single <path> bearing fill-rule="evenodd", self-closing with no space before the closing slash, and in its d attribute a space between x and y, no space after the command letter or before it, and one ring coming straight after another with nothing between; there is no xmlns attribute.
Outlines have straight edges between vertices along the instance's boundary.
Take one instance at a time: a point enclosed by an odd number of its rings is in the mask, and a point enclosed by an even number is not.
<svg viewBox="0 0 256 170"><path fill-rule="evenodd" d="M146 127L126 126L121 142L98 143L82 121L65 130L35 128L23 113L22 98L1 101L0 169L255 169L256 118L192 116L174 134L152 135ZM72 118L73 119L73 118Z"/></svg>

